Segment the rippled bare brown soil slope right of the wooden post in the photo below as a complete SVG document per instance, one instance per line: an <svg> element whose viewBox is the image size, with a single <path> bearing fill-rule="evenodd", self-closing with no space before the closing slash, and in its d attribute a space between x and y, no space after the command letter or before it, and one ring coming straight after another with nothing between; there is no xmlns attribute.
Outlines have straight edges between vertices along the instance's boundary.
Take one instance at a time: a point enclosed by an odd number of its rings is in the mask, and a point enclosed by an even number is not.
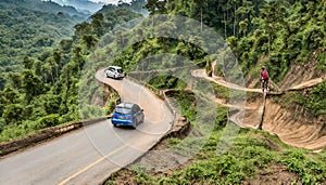
<svg viewBox="0 0 326 185"><path fill-rule="evenodd" d="M277 134L292 146L313 150L326 146L326 124L323 118L314 118L300 106L283 108L273 101L266 100L263 130Z"/></svg>

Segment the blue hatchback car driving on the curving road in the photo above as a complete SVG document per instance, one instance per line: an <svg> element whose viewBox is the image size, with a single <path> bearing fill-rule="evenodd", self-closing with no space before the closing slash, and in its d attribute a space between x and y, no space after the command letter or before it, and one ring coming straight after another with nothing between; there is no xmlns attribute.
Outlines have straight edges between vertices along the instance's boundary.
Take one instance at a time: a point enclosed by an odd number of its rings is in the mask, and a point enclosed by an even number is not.
<svg viewBox="0 0 326 185"><path fill-rule="evenodd" d="M138 123L143 122L143 109L137 104L121 103L115 107L111 122L114 127L130 125L136 128Z"/></svg>

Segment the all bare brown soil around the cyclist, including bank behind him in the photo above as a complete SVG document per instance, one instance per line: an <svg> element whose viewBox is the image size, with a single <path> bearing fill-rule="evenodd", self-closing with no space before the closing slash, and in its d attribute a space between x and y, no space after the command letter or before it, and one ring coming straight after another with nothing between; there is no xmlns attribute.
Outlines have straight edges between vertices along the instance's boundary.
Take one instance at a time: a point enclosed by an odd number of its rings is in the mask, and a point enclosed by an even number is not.
<svg viewBox="0 0 326 185"><path fill-rule="evenodd" d="M212 65L215 66L214 63ZM293 78L293 72L296 74L296 78ZM224 81L223 78L216 76L208 77L204 70L196 70L192 72L192 76L205 78L227 88L262 93L260 89L241 88L235 84L229 84ZM312 65L312 67L293 65L286 76L286 82L281 88L286 88L286 90L291 91L301 90L316 85L323 81L323 78L324 77L316 71L314 65ZM215 100L215 102L217 104L222 103L221 105L224 106L230 106L225 104L223 101ZM306 114L300 106L297 106L294 109L286 109L281 108L280 105L273 103L268 98L266 100L265 106L263 103L264 96L262 96L262 98L258 97L255 102L251 102L250 104L247 103L246 111L236 110L229 115L229 118L242 128L259 129L259 125L262 123L263 130L278 135L283 142L292 146L313 150L319 150L326 146L325 119L317 119L309 116L309 114Z"/></svg>

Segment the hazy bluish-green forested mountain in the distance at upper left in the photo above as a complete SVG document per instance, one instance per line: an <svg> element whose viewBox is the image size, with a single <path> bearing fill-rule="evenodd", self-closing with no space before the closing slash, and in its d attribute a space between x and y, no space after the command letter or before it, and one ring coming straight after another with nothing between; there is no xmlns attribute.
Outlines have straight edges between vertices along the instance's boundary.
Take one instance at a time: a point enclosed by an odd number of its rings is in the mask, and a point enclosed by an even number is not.
<svg viewBox="0 0 326 185"><path fill-rule="evenodd" d="M0 1L0 72L20 70L25 56L36 56L70 37L74 25L86 18L74 8L54 2Z"/></svg>

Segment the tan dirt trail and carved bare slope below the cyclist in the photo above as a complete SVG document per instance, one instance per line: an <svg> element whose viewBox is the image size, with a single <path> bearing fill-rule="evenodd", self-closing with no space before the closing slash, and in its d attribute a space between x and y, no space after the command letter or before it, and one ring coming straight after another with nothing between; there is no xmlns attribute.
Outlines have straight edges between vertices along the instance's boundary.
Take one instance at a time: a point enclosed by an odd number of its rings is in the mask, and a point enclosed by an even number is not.
<svg viewBox="0 0 326 185"><path fill-rule="evenodd" d="M213 71L215 66L214 64L215 63L213 63L212 67ZM204 69L193 70L191 75L193 77L204 78L226 88L262 94L261 89L249 89L228 83L223 78L214 76L214 72L212 77L209 77ZM294 91L314 87L322 81L323 78L312 79L291 87L286 91ZM223 100L213 100L220 105L233 107L231 105L223 102ZM266 100L265 94L262 95L261 100L263 101L251 103L251 105L248 105L247 103L244 109L233 110L233 113L229 115L229 119L242 128L261 128L272 134L276 134L284 143L292 146L313 150L319 150L326 146L325 125L318 123L317 119L308 119L300 114L294 115L293 113L289 113L279 105ZM243 111L246 113L242 120L241 115L243 115Z"/></svg>

